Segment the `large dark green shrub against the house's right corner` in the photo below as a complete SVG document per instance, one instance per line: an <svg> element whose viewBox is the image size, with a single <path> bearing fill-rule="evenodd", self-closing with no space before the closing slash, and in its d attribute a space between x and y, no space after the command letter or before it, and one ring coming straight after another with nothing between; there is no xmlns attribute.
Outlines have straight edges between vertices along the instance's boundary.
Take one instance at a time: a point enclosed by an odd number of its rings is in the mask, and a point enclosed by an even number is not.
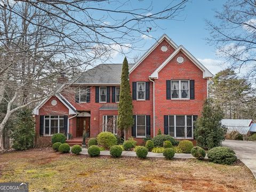
<svg viewBox="0 0 256 192"><path fill-rule="evenodd" d="M194 130L198 146L204 149L221 146L221 142L225 140L227 131L221 125L222 118L222 109L217 105L213 105L211 99L205 100L202 116L198 117Z"/></svg>

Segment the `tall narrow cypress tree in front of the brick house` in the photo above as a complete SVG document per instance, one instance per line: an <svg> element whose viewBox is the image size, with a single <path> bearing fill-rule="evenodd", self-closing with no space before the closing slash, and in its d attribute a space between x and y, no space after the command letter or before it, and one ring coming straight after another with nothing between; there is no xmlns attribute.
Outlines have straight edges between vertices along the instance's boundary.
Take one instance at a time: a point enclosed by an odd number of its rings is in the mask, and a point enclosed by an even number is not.
<svg viewBox="0 0 256 192"><path fill-rule="evenodd" d="M129 83L129 68L126 57L123 61L120 97L118 105L118 121L117 126L119 130L127 130L133 125L132 116L132 95Z"/></svg>

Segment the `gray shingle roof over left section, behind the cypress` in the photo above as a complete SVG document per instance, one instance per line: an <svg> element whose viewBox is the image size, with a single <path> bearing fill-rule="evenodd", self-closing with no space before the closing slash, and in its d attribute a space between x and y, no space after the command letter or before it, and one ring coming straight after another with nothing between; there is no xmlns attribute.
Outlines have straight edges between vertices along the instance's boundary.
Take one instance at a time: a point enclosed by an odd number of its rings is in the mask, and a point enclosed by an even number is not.
<svg viewBox="0 0 256 192"><path fill-rule="evenodd" d="M73 84L120 84L123 64L100 64L85 71ZM133 64L129 64L129 69Z"/></svg>

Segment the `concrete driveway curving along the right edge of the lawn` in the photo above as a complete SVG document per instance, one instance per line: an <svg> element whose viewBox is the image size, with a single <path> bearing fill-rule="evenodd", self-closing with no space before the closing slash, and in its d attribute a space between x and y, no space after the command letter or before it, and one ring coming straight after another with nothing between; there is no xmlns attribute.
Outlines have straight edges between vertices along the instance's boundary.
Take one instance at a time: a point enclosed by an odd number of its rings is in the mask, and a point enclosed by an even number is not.
<svg viewBox="0 0 256 192"><path fill-rule="evenodd" d="M237 158L249 167L256 178L256 142L225 140L222 145L233 149Z"/></svg>

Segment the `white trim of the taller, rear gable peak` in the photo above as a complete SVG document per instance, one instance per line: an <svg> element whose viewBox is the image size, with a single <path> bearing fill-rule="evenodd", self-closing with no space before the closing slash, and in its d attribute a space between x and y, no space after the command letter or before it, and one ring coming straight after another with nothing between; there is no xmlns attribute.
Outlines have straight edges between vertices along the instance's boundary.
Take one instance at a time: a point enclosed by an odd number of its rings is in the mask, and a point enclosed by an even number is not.
<svg viewBox="0 0 256 192"><path fill-rule="evenodd" d="M142 57L129 69L129 73L132 73L132 71L133 71L135 68L137 68L137 67L140 65L140 63L141 63L146 57L148 57L148 55L149 55L152 51L154 51L154 50L156 49L157 45L159 45L162 41L164 41L164 39L166 39L166 41L167 41L174 49L177 49L177 48L178 48L178 45L177 45L176 43L174 43L170 37L168 37L166 34L162 35L162 37L160 37L160 38L158 39L158 41L157 41L153 46L151 46L150 49L149 49L145 54L143 54Z"/></svg>

